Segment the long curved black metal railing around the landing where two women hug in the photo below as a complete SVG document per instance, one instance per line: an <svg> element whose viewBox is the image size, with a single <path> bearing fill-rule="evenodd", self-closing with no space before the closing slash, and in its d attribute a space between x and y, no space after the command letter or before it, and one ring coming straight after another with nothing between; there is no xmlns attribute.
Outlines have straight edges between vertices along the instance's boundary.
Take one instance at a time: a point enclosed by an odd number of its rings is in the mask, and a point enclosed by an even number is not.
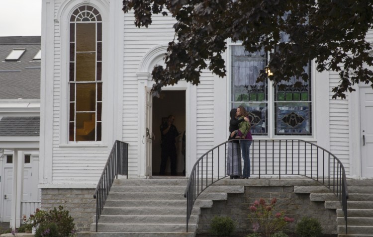
<svg viewBox="0 0 373 237"><path fill-rule="evenodd" d="M197 197L211 184L227 177L226 141L203 154L191 169L184 197L188 223ZM233 152L233 150L232 150ZM301 175L329 188L341 201L347 234L348 188L342 162L329 151L303 140L253 140L250 152L251 174ZM222 171L224 167L224 171Z"/></svg>

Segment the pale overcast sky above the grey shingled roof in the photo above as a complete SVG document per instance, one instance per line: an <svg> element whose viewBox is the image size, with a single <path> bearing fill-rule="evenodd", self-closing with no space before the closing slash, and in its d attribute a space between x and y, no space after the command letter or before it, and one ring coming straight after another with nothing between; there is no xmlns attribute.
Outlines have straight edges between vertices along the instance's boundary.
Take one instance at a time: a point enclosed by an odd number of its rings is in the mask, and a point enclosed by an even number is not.
<svg viewBox="0 0 373 237"><path fill-rule="evenodd" d="M41 35L41 0L0 0L0 36Z"/></svg>

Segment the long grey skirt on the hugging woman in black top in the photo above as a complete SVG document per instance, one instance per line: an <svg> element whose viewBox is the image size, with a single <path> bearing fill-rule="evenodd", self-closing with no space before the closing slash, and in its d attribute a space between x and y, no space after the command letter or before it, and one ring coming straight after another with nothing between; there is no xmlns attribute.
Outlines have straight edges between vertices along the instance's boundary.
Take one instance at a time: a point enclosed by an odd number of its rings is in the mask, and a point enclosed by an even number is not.
<svg viewBox="0 0 373 237"><path fill-rule="evenodd" d="M241 147L239 143L228 143L227 175L241 176Z"/></svg>

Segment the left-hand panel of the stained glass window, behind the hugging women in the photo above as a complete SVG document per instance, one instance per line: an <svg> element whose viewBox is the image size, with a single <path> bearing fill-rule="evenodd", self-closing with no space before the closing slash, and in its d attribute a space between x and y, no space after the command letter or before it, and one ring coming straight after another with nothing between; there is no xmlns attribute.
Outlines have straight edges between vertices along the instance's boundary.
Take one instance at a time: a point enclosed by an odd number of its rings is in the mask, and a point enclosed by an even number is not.
<svg viewBox="0 0 373 237"><path fill-rule="evenodd" d="M256 82L265 65L264 50L248 53L241 45L231 46L232 108L246 108L254 135L268 135L268 84Z"/></svg>

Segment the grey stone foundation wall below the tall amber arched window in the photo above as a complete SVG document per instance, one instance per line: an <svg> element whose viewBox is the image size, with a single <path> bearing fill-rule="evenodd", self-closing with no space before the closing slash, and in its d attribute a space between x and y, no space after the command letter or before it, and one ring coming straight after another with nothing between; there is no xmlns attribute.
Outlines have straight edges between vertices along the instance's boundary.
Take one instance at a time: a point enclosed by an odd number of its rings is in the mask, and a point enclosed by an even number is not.
<svg viewBox="0 0 373 237"><path fill-rule="evenodd" d="M90 231L93 216L96 214L93 193L94 189L42 189L41 209L48 211L61 205L74 218L78 231Z"/></svg>

